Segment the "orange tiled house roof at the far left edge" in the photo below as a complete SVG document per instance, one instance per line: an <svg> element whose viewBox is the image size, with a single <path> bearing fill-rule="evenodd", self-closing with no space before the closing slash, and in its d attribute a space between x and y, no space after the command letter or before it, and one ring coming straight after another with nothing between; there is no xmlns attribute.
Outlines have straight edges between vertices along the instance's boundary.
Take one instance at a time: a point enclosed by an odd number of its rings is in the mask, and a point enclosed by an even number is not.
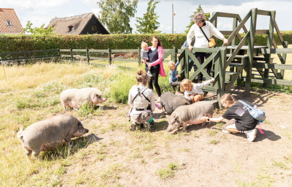
<svg viewBox="0 0 292 187"><path fill-rule="evenodd" d="M10 21L11 25L8 25ZM20 34L22 31L21 23L13 8L0 8L0 33L1 34Z"/></svg>

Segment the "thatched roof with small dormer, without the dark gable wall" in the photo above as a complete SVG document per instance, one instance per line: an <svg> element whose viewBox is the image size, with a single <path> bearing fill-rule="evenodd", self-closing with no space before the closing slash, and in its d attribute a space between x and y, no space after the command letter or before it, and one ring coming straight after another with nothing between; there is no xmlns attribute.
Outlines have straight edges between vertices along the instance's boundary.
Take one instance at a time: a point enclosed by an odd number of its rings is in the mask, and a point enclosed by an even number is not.
<svg viewBox="0 0 292 187"><path fill-rule="evenodd" d="M97 17L93 13L86 13L86 14L81 14L81 15L71 16L71 17L55 17L50 21L46 29L52 26L53 28L55 28L55 30L52 33L79 35L81 34L81 32L83 31L83 29L85 28L89 20L91 19L91 17L93 16L97 19ZM98 22L100 23L99 20ZM100 25L104 28L104 26L101 23ZM74 27L74 31L69 32L70 26ZM108 32L108 34L110 33Z"/></svg>

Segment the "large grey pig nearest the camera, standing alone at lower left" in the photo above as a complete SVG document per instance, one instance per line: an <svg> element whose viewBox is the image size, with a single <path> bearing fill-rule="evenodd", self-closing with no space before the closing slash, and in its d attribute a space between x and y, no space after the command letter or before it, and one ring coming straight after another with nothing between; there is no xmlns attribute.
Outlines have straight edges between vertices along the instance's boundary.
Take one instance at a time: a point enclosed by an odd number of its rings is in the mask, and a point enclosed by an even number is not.
<svg viewBox="0 0 292 187"><path fill-rule="evenodd" d="M85 133L88 133L88 129L83 128L78 119L68 115L59 115L37 121L25 130L20 128L17 137L21 141L28 161L31 153L38 159L41 151L61 144L63 140L68 146L71 146L71 138L82 136Z"/></svg>

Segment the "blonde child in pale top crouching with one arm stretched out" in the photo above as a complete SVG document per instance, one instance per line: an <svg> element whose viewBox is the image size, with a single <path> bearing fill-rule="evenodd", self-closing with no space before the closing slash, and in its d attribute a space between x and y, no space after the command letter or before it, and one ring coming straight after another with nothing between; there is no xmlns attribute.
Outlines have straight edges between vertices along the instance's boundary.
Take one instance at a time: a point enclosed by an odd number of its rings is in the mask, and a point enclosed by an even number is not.
<svg viewBox="0 0 292 187"><path fill-rule="evenodd" d="M207 86L214 81L215 79L212 78L203 83L195 84L188 79L183 79L183 81L181 82L181 90L185 90L184 97L186 99L189 99L192 102L199 102L204 98L204 92L201 87Z"/></svg>

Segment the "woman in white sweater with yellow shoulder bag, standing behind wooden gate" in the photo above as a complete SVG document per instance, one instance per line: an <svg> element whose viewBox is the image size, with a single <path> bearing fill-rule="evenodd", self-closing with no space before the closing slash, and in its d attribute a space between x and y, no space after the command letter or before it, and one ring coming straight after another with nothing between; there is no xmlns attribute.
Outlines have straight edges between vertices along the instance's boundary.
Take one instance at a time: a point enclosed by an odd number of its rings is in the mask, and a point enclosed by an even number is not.
<svg viewBox="0 0 292 187"><path fill-rule="evenodd" d="M218 37L219 39L223 40L224 44L228 44L228 39L224 37L223 34L221 34L218 29L214 27L214 25L210 21L206 21L206 17L201 13L197 13L196 16L193 18L193 21L196 23L192 25L190 28L186 40L188 42L188 48L190 51L193 50L193 46L191 45L192 38L195 36L195 48L209 48L208 46L208 40L202 33L200 27L206 34L208 38L211 38L212 35ZM209 56L211 55L210 52L196 52L195 56L198 59L198 61L202 64ZM207 73L210 74L210 70L212 68L212 63L210 62L207 65ZM203 75L202 73L198 74L198 83L202 82Z"/></svg>

